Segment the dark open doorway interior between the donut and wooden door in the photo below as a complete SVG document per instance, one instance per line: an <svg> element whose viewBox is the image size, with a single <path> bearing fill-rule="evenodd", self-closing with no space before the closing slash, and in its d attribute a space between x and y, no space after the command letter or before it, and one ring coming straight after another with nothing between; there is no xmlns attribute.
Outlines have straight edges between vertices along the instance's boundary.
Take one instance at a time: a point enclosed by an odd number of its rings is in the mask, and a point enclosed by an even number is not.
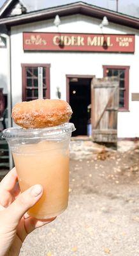
<svg viewBox="0 0 139 256"><path fill-rule="evenodd" d="M70 122L73 122L76 131L73 136L87 135L87 124L89 123L91 104L91 78L69 79L69 104L73 109Z"/></svg>

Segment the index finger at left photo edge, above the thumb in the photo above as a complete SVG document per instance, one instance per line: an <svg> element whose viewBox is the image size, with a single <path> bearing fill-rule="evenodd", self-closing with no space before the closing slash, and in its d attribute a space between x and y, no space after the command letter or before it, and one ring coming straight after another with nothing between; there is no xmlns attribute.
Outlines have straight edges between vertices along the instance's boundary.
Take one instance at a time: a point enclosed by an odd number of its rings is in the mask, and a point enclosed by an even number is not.
<svg viewBox="0 0 139 256"><path fill-rule="evenodd" d="M11 191L17 182L17 172L15 167L11 169L10 172L1 180L0 189L4 189L6 191Z"/></svg>

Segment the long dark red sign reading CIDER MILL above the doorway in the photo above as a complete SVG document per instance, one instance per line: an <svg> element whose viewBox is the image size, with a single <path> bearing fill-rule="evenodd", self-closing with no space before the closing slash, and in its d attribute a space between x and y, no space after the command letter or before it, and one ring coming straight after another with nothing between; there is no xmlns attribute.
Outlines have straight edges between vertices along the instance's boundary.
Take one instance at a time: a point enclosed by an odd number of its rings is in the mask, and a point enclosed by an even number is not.
<svg viewBox="0 0 139 256"><path fill-rule="evenodd" d="M23 33L24 51L135 52L135 35Z"/></svg>

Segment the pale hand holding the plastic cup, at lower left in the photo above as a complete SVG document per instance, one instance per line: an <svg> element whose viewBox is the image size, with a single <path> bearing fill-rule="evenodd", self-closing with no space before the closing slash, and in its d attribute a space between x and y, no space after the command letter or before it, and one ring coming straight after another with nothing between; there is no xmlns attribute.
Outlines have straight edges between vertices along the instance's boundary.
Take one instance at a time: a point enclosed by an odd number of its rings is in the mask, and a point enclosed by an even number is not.
<svg viewBox="0 0 139 256"><path fill-rule="evenodd" d="M0 183L0 256L17 256L27 234L55 218L36 220L26 212L43 195L37 184L20 193L17 173L13 168Z"/></svg>

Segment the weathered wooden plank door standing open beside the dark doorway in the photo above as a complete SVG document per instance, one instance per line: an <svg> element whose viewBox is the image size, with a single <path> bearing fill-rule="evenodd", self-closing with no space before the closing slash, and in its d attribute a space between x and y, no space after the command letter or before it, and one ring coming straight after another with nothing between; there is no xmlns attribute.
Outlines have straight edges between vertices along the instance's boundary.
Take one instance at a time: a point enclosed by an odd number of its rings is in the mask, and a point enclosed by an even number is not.
<svg viewBox="0 0 139 256"><path fill-rule="evenodd" d="M119 81L117 77L94 78L92 90L92 140L117 142Z"/></svg>

